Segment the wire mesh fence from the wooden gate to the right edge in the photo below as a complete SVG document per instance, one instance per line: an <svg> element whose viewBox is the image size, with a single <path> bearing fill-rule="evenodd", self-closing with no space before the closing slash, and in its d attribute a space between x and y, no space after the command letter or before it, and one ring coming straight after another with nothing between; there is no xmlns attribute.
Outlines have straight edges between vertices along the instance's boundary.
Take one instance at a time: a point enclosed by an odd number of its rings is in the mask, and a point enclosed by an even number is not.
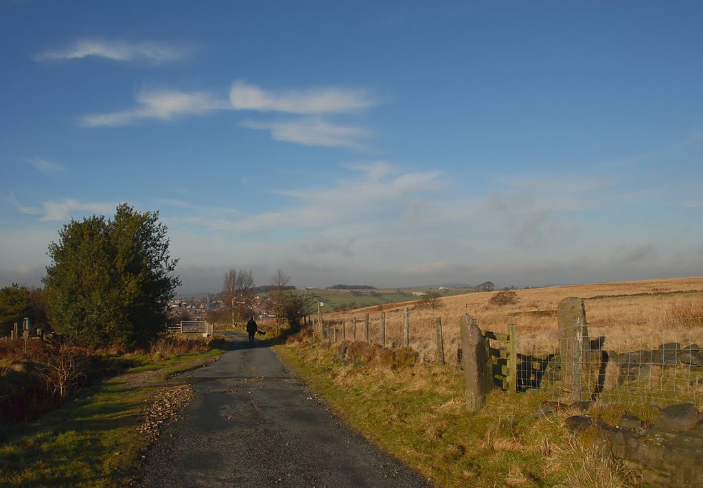
<svg viewBox="0 0 703 488"><path fill-rule="evenodd" d="M519 333L517 390L560 401L703 406L703 319Z"/></svg>

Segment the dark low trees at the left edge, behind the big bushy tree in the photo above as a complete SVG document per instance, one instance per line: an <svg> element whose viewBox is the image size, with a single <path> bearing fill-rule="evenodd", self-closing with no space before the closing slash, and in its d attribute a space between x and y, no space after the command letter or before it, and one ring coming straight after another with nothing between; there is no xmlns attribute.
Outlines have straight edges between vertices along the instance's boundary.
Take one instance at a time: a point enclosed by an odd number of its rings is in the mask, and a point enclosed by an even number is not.
<svg viewBox="0 0 703 488"><path fill-rule="evenodd" d="M0 289L0 335L8 335L13 323L22 324L29 317L32 327L46 327L44 292L13 283Z"/></svg>

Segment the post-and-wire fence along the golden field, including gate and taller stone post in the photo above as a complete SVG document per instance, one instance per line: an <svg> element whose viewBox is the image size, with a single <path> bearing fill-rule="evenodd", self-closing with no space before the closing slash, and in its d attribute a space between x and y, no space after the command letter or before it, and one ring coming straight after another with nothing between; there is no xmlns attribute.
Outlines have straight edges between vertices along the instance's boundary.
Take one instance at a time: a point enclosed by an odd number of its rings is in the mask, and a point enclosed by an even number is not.
<svg viewBox="0 0 703 488"><path fill-rule="evenodd" d="M422 362L460 367L460 320L444 319L449 327L439 318L413 321L405 307L326 323L318 314L314 326L330 344L359 340L381 347L408 346ZM494 384L508 391L542 390L555 400L570 402L690 402L700 407L701 320L681 317L590 325L583 300L572 298L560 303L556 327L551 330L522 332L510 324L505 326L507 334L486 330L483 337L491 352ZM623 327L627 325L640 327Z"/></svg>

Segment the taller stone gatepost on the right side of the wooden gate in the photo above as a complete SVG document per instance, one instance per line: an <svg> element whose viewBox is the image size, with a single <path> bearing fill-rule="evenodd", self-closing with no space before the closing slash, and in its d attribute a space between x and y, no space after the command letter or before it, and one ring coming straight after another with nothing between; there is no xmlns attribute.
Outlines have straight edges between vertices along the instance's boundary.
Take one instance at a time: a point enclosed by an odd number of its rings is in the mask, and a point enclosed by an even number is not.
<svg viewBox="0 0 703 488"><path fill-rule="evenodd" d="M588 338L586 307L583 299L568 297L557 307L559 349L561 355L560 379L571 384L572 400L581 401L583 371L588 371L591 360L591 342Z"/></svg>

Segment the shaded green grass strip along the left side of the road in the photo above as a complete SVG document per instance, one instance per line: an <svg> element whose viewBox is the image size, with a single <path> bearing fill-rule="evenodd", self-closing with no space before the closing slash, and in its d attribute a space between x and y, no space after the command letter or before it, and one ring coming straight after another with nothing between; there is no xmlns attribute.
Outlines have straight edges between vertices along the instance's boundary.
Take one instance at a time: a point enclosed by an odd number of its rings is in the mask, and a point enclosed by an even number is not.
<svg viewBox="0 0 703 488"><path fill-rule="evenodd" d="M0 445L0 486L122 486L141 462L148 441L137 432L143 412L167 375L217 357L210 350L138 363L129 373L155 371L148 383L129 374L102 380L51 413L15 425Z"/></svg>

